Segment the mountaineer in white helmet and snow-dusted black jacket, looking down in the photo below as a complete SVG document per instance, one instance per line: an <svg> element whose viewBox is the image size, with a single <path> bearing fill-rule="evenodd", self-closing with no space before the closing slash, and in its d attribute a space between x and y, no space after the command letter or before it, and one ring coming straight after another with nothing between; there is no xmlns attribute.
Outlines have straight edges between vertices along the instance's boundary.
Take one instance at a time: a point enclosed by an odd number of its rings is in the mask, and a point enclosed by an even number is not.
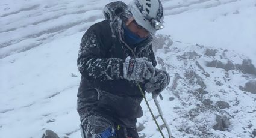
<svg viewBox="0 0 256 138"><path fill-rule="evenodd" d="M170 82L166 71L155 68L151 44L155 32L164 28L163 6L159 0L111 2L104 16L87 29L78 53L81 134L138 138L143 96L137 83L158 95Z"/></svg>

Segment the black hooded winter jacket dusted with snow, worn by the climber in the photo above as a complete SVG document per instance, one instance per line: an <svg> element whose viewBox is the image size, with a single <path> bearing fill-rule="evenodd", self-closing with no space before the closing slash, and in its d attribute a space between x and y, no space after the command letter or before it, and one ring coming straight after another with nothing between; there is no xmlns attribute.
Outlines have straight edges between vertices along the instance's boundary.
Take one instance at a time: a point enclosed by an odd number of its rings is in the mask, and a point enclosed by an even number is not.
<svg viewBox="0 0 256 138"><path fill-rule="evenodd" d="M80 119L94 113L108 116L113 122L136 127L143 115L143 99L136 82L123 79L125 58L146 57L155 66L152 37L136 46L123 42L122 17L127 6L123 2L106 5L106 20L96 23L83 35L78 53L78 70L82 74L78 89ZM142 89L145 82L140 83Z"/></svg>

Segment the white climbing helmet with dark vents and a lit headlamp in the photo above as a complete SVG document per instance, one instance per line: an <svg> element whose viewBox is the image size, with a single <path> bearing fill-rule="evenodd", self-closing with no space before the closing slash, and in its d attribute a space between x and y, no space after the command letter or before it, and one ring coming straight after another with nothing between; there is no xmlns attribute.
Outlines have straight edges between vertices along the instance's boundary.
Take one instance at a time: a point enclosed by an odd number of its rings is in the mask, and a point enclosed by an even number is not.
<svg viewBox="0 0 256 138"><path fill-rule="evenodd" d="M160 0L133 0L129 8L135 21L152 35L164 28L163 5Z"/></svg>

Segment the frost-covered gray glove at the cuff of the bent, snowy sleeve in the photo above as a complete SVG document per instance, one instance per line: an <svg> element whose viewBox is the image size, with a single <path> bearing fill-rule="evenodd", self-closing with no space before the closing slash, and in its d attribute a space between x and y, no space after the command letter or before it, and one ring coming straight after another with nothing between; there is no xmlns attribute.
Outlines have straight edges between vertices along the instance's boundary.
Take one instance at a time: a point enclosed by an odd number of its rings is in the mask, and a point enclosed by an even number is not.
<svg viewBox="0 0 256 138"><path fill-rule="evenodd" d="M123 77L127 80L143 82L155 76L155 67L147 58L134 58L128 56L123 63Z"/></svg>

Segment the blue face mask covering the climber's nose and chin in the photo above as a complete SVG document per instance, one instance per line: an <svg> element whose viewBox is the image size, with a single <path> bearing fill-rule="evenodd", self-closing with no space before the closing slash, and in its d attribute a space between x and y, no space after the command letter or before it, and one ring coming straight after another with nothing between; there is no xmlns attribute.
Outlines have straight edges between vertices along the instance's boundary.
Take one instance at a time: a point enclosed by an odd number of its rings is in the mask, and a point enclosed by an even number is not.
<svg viewBox="0 0 256 138"><path fill-rule="evenodd" d="M140 38L139 35L134 34L132 31L130 31L129 28L127 28L126 25L122 25L122 26L124 31L123 37L124 37L125 43L129 45L134 45L146 39L146 38Z"/></svg>

